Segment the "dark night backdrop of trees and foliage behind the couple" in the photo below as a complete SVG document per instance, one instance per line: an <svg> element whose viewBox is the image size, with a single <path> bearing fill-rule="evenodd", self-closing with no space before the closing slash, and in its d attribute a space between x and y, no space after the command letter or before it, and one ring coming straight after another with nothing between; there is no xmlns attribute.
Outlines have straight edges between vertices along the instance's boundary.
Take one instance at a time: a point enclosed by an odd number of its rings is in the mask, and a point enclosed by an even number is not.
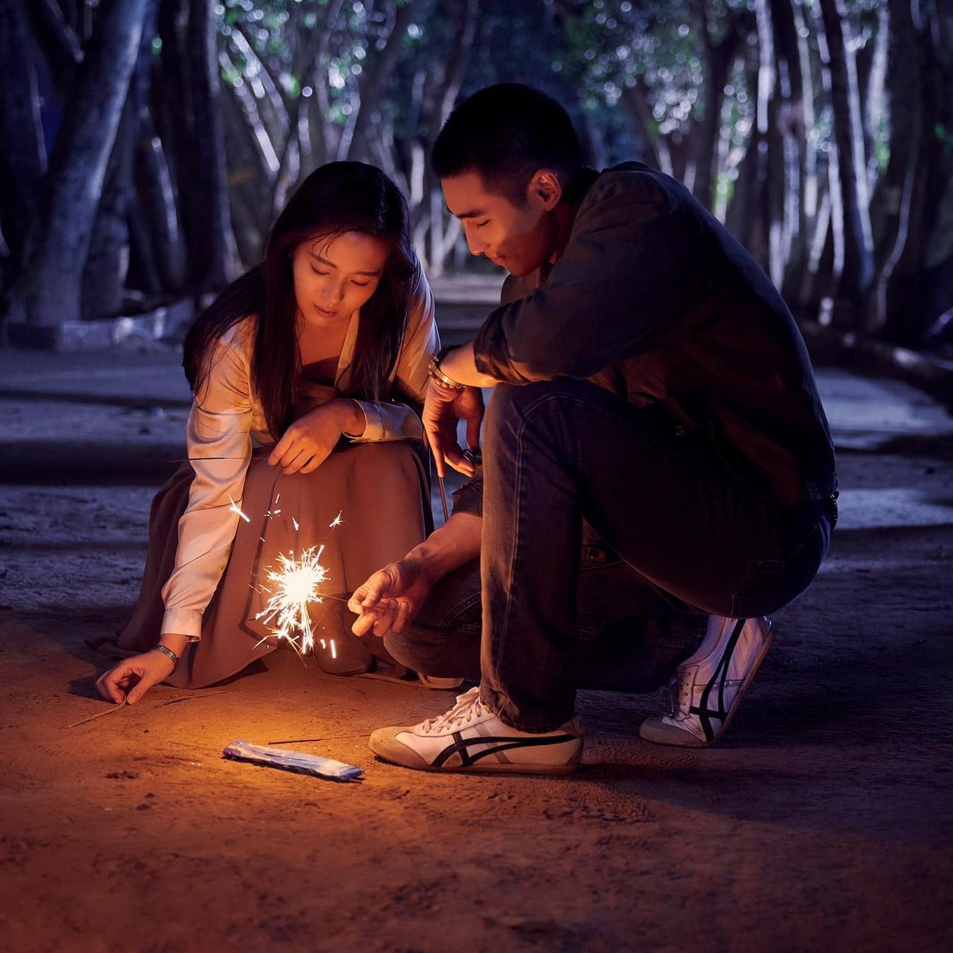
<svg viewBox="0 0 953 953"><path fill-rule="evenodd" d="M460 96L520 81L594 165L688 184L803 322L950 351L945 0L0 0L0 27L14 343L200 303L332 159L396 179L428 274L478 268L428 149Z"/></svg>

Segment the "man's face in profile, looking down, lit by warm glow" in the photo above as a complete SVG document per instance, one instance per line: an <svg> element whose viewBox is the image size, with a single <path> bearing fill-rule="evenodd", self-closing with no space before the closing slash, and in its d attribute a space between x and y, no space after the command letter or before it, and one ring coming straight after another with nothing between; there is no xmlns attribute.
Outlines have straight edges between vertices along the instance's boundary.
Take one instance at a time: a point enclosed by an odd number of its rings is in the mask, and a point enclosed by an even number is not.
<svg viewBox="0 0 953 953"><path fill-rule="evenodd" d="M485 254L519 277L535 272L556 252L554 203L535 187L536 179L530 182L522 206L505 195L487 192L476 172L440 181L447 208L463 224L470 252Z"/></svg>

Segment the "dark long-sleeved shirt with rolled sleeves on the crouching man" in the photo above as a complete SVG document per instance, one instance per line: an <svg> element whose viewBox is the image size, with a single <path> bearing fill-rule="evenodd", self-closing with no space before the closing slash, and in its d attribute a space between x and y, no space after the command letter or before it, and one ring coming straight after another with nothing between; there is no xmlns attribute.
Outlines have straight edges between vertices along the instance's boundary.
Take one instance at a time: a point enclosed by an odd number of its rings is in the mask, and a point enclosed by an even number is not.
<svg viewBox="0 0 953 953"><path fill-rule="evenodd" d="M755 260L675 179L638 162L589 173L563 252L510 277L476 367L512 384L588 378L660 401L756 495L837 490L834 450L794 318Z"/></svg>

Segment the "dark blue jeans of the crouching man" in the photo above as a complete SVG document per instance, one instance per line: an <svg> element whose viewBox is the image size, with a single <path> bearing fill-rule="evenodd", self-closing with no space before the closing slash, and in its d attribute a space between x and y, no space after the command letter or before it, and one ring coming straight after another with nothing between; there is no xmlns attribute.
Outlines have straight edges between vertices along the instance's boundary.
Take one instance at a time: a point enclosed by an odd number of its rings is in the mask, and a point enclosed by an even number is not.
<svg viewBox="0 0 953 953"><path fill-rule="evenodd" d="M497 385L483 460L478 618L463 567L387 647L471 675L478 623L481 697L524 731L570 718L578 687L658 685L706 616L780 609L830 541L827 504L754 497L703 437L588 381Z"/></svg>

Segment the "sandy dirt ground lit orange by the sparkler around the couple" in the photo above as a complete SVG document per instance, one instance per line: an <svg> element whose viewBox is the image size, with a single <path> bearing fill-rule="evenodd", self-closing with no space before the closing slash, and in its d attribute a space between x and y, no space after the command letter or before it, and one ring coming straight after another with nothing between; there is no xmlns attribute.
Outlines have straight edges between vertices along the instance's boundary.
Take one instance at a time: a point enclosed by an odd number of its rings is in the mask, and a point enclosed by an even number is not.
<svg viewBox="0 0 953 953"><path fill-rule="evenodd" d="M953 420L927 397L820 369L841 526L719 746L653 746L656 698L583 693L578 775L441 777L366 742L450 693L288 652L97 698L84 639L134 598L183 454L177 362L0 352L0 950L953 948ZM223 759L239 738L365 773Z"/></svg>

